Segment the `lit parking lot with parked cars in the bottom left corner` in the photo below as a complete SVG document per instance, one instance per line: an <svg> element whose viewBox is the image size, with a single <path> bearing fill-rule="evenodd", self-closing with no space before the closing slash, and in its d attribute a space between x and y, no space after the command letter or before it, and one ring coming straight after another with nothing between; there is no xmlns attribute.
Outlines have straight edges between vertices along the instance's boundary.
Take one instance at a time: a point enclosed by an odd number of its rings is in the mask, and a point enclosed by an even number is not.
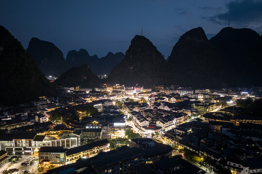
<svg viewBox="0 0 262 174"><path fill-rule="evenodd" d="M12 157L12 156L10 156ZM12 166L8 168L10 169L19 169L18 174L37 174L39 173L37 171L38 166L38 158L33 157L32 155L21 155L22 159L18 162L14 163ZM36 161L34 163L33 161ZM33 163L32 163L33 162ZM25 165L21 165L22 163L26 163ZM30 165L32 164L32 165ZM34 165L35 164L35 165ZM26 172L27 171L27 172Z"/></svg>

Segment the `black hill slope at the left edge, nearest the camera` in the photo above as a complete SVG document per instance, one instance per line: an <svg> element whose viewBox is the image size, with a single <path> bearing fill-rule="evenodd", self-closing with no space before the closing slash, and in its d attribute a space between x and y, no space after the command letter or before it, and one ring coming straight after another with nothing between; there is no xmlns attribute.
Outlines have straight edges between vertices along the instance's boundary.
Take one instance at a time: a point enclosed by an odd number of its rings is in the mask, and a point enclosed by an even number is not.
<svg viewBox="0 0 262 174"><path fill-rule="evenodd" d="M30 102L56 93L33 58L7 29L0 26L0 104Z"/></svg>

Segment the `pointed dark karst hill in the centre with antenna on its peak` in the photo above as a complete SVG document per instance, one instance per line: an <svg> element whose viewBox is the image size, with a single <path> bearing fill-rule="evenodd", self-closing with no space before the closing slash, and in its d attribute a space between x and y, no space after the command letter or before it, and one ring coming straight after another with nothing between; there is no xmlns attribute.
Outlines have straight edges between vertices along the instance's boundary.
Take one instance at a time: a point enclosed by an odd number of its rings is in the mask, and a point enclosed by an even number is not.
<svg viewBox="0 0 262 174"><path fill-rule="evenodd" d="M136 35L125 58L113 68L111 83L129 85L165 85L166 62L164 56L146 37Z"/></svg>

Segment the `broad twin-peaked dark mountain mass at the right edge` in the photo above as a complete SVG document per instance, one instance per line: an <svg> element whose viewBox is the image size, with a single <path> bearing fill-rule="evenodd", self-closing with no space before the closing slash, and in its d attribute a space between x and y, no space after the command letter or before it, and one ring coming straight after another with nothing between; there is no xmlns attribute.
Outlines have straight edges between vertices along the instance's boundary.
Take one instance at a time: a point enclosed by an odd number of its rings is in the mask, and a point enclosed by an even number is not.
<svg viewBox="0 0 262 174"><path fill-rule="evenodd" d="M262 38L251 29L224 28L208 40L202 28L184 33L168 59L169 84L191 87L262 85Z"/></svg>

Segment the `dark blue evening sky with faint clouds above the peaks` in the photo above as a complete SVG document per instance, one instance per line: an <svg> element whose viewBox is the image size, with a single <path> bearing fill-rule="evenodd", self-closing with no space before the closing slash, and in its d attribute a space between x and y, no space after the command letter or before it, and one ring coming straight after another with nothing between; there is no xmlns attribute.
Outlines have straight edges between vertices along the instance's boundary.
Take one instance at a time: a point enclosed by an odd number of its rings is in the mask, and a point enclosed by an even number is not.
<svg viewBox="0 0 262 174"><path fill-rule="evenodd" d="M1 0L0 25L26 49L32 37L54 43L66 58L123 52L146 36L167 58L180 35L202 27L211 37L228 25L262 33L262 0Z"/></svg>

